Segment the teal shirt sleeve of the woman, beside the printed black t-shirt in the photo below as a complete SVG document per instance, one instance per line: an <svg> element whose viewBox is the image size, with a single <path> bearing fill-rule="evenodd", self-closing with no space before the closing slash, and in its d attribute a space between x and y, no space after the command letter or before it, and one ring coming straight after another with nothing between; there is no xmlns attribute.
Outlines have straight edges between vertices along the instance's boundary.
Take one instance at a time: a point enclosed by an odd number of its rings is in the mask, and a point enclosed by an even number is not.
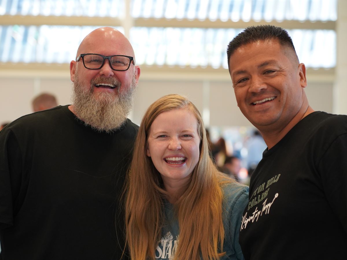
<svg viewBox="0 0 347 260"><path fill-rule="evenodd" d="M241 250L241 246L239 244L239 235L240 235L240 227L242 222L242 214L246 208L248 203L248 192L249 188L244 187L237 191L234 194L234 198L231 199L234 201L234 204L231 208L230 212L230 221L229 221L229 232L230 239L232 240L232 246L235 253L235 259L244 259L243 253Z"/></svg>

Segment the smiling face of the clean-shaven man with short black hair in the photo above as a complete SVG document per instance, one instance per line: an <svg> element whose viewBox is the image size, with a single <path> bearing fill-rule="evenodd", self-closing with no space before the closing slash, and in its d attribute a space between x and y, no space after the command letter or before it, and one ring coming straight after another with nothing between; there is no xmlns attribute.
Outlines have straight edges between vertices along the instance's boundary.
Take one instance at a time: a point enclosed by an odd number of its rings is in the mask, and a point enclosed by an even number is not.
<svg viewBox="0 0 347 260"><path fill-rule="evenodd" d="M237 105L258 129L282 129L298 113L306 87L305 65L277 40L240 46L229 72Z"/></svg>

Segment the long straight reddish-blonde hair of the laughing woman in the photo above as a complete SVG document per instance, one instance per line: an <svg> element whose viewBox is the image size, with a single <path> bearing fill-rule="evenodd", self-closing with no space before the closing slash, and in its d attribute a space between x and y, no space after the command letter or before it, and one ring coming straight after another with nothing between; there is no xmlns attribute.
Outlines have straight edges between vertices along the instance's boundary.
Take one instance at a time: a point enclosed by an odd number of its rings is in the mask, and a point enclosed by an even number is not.
<svg viewBox="0 0 347 260"><path fill-rule="evenodd" d="M219 259L223 248L221 186L235 182L220 173L209 155L201 114L186 97L171 94L155 101L142 119L135 141L130 174L126 182L126 240L132 260L155 258L163 225L164 190L161 175L146 156L147 137L154 119L164 111L184 108L198 122L200 157L186 191L174 203L179 223L179 243L174 259Z"/></svg>

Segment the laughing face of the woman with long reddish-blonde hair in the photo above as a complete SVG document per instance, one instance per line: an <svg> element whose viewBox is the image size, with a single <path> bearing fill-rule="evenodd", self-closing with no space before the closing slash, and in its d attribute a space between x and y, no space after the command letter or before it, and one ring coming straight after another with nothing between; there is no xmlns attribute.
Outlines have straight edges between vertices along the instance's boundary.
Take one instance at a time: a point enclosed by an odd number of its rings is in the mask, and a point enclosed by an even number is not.
<svg viewBox="0 0 347 260"><path fill-rule="evenodd" d="M186 185L200 156L200 136L194 114L185 108L160 113L154 119L147 156L162 176L164 185Z"/></svg>

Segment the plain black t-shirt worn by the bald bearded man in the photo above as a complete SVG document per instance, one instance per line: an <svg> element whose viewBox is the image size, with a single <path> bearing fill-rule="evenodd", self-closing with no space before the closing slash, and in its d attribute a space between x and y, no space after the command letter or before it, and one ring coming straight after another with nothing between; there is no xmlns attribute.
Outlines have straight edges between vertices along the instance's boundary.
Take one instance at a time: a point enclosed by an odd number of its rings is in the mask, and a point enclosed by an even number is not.
<svg viewBox="0 0 347 260"><path fill-rule="evenodd" d="M137 130L127 120L100 133L68 106L1 130L0 259L120 259L120 194Z"/></svg>

